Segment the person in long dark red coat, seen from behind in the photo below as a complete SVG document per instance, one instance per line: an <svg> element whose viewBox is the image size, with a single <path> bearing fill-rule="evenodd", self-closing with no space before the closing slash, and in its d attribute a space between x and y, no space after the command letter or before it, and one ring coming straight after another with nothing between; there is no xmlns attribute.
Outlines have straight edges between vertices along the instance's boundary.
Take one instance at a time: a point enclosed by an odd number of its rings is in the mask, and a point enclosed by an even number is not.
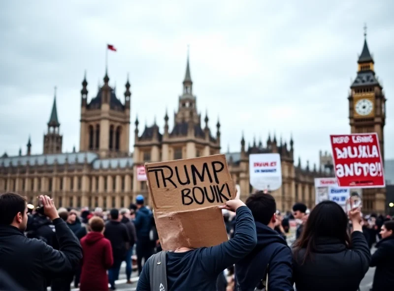
<svg viewBox="0 0 394 291"><path fill-rule="evenodd" d="M91 230L81 239L83 250L80 291L108 291L107 269L113 264L112 247L104 237L104 221L99 216L89 220Z"/></svg>

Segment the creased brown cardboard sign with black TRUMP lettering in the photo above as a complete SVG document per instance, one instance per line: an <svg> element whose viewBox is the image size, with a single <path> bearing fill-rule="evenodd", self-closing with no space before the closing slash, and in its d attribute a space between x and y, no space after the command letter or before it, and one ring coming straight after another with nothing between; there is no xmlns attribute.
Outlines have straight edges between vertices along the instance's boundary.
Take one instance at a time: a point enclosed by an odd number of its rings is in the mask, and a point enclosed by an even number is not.
<svg viewBox="0 0 394 291"><path fill-rule="evenodd" d="M145 164L163 250L228 240L218 205L234 199L225 155Z"/></svg>

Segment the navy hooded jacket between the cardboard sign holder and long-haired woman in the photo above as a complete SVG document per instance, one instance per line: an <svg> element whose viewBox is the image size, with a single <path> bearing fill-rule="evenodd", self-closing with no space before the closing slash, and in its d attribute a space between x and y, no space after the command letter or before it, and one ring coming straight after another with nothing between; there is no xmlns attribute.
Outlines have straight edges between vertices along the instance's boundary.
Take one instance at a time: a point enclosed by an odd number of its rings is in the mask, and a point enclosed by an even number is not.
<svg viewBox="0 0 394 291"><path fill-rule="evenodd" d="M235 264L239 291L255 290L264 278L267 264L269 291L294 291L292 251L273 229L256 222L257 245L244 259Z"/></svg>

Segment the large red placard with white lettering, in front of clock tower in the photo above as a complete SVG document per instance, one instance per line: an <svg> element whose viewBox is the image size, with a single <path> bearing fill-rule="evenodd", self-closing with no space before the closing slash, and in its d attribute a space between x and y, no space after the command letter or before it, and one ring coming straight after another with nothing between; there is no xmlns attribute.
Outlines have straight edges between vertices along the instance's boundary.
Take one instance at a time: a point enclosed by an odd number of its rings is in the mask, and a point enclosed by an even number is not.
<svg viewBox="0 0 394 291"><path fill-rule="evenodd" d="M330 140L339 187L385 187L377 133L330 135Z"/></svg>

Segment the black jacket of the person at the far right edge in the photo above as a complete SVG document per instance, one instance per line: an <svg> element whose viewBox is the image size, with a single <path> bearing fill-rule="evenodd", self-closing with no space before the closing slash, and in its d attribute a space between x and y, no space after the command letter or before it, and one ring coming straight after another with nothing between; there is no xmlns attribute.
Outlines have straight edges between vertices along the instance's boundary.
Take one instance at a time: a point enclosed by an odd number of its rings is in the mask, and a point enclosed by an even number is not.
<svg viewBox="0 0 394 291"><path fill-rule="evenodd" d="M376 266L373 277L373 291L393 290L394 286L394 235L383 238L376 244L371 267Z"/></svg>

